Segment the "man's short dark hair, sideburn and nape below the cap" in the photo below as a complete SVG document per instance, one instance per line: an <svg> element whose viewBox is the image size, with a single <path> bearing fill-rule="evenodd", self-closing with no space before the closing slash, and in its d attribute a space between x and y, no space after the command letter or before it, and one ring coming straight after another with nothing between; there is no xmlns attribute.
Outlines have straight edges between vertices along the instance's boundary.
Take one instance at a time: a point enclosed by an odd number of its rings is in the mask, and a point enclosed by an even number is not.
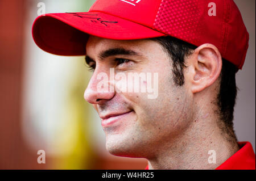
<svg viewBox="0 0 256 181"><path fill-rule="evenodd" d="M171 57L173 66L174 83L176 86L184 85L185 58L193 53L197 47L171 36L162 36L151 39L160 43ZM236 138L233 131L233 112L236 104L237 68L231 62L222 58L220 91L217 95L218 115L222 123L218 123L225 133L231 138ZM223 124L224 123L224 124ZM229 137L229 138L230 138Z"/></svg>

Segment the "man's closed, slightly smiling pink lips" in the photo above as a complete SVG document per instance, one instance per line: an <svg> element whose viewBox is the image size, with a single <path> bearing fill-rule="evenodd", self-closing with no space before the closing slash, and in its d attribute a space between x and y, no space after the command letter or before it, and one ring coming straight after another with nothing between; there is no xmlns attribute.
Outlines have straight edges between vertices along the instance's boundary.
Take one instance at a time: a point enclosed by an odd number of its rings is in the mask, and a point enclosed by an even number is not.
<svg viewBox="0 0 256 181"><path fill-rule="evenodd" d="M122 120L125 118L129 113L133 112L133 110L128 111L128 112L122 112L122 113L109 113L105 116L100 116L101 117L101 125L102 127L106 127L110 124L113 124L114 122L118 120Z"/></svg>

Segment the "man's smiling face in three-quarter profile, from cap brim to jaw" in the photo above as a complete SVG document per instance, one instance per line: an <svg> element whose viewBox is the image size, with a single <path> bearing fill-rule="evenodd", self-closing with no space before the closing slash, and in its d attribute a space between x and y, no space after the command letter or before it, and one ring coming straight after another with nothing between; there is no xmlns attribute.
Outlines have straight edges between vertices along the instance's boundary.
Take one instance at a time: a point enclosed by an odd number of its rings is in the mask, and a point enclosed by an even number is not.
<svg viewBox="0 0 256 181"><path fill-rule="evenodd" d="M170 57L160 44L152 40L109 40L90 36L86 45L86 61L95 68L84 98L93 104L102 120L106 148L114 155L154 157L165 143L175 140L188 127L191 96L185 83L175 86L172 81ZM88 58L89 57L89 58ZM158 73L158 96L148 98L148 92L99 91L102 73L108 75L106 85L113 85L114 73L151 75ZM139 82L148 86L148 80ZM118 82L118 83L117 83ZM115 83L129 87L130 82L117 79Z"/></svg>

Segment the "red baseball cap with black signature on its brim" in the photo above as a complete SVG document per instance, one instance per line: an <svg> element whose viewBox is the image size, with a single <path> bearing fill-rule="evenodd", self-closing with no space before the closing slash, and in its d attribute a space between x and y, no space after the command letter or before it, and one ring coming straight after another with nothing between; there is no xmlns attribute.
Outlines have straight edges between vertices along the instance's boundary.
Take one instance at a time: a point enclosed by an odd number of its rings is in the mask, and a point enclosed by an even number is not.
<svg viewBox="0 0 256 181"><path fill-rule="evenodd" d="M89 35L114 40L173 36L200 46L215 45L241 69L249 34L232 0L97 0L88 12L38 16L35 43L46 52L85 55Z"/></svg>

